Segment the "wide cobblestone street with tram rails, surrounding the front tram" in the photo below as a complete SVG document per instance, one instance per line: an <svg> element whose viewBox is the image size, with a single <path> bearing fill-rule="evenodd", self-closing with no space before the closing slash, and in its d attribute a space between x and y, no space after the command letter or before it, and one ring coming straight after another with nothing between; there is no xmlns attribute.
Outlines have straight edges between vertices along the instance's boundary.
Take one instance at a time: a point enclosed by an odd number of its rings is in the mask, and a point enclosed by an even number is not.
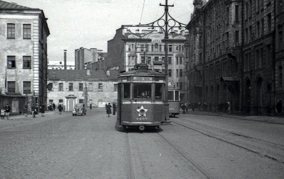
<svg viewBox="0 0 284 179"><path fill-rule="evenodd" d="M207 115L206 115L207 114ZM1 178L283 178L280 120L189 111L157 130L117 131L104 109L0 121ZM260 117L261 118L261 117Z"/></svg>

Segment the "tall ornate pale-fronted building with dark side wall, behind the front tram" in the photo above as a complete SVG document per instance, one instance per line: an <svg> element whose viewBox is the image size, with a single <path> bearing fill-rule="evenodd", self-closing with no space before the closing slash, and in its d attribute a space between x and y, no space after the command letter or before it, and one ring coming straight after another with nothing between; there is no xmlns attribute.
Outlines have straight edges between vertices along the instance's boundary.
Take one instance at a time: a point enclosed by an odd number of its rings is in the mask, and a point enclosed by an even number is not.
<svg viewBox="0 0 284 179"><path fill-rule="evenodd" d="M187 101L187 76L185 75L184 42L185 32L175 31L168 39L168 81L171 86L180 89L181 101ZM148 64L149 69L164 72L165 41L164 33L141 30L132 33L120 28L108 41L107 67L119 67L120 71L129 71L136 64Z"/></svg>

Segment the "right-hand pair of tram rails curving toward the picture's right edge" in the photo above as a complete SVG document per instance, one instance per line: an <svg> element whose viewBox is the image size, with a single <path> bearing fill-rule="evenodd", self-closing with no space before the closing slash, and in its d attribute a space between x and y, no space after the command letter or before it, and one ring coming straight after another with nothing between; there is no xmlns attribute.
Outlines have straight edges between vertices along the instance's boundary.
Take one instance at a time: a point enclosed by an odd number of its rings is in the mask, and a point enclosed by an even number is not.
<svg viewBox="0 0 284 179"><path fill-rule="evenodd" d="M182 119L179 119L179 120L182 121ZM281 155L284 152L284 148L283 148L282 145L278 145L278 144L275 144L273 142L268 142L268 141L265 141L265 140L261 140L261 139L257 139L257 138L253 138L253 137L249 137L249 136L239 135L239 134L236 134L236 133L232 133L230 131L226 131L226 130L223 130L223 129L218 129L216 127L208 126L208 125L205 125L205 124L202 124L202 123L193 122L191 120L185 120L185 121L192 122L192 123L195 123L197 125L201 125L201 126L203 126L203 129L206 127L207 129L209 128L209 129L213 129L215 131L221 132L221 133L225 133L226 135L231 135L229 137L242 137L241 138L242 140L247 140L247 146L243 146L241 144L237 144L237 142L230 142L228 139L225 139L226 137L224 137L222 135L220 137L220 134L216 134L216 133L210 132L210 131L200 130L200 129L198 129L198 127L195 127L193 125L182 124L182 123L179 123L179 122L176 122L176 121L175 122L172 121L172 123L175 123L177 125L180 125L180 126L183 126L183 127L187 128L187 129L191 129L193 131L199 132L199 133L201 133L203 135L206 135L208 137L212 137L212 138L218 139L220 141L229 143L231 145L237 146L239 148L245 149L245 150L253 152L255 154L267 157L267 158L272 159L274 161L277 161L279 163L282 163L282 164L284 163L284 159L283 159L284 156ZM237 138L236 140L240 140L240 139ZM255 140L259 140L261 143L260 142L256 142ZM239 143L245 143L245 142L239 142ZM253 144L262 145L262 148L257 148L255 146L253 146ZM251 145L251 146L249 146L249 145ZM270 150L266 149L266 147L269 148ZM276 154L273 154L273 152L276 149L278 150L278 152L277 152L278 156L277 157L279 157L281 159L279 159L279 158L277 158L275 156L272 157L273 155L276 155Z"/></svg>

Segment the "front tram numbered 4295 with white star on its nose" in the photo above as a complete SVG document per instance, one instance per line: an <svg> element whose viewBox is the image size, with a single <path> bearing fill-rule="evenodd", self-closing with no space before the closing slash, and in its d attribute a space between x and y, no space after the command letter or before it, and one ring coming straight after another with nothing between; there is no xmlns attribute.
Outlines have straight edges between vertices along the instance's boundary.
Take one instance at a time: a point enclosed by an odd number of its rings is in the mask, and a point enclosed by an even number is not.
<svg viewBox="0 0 284 179"><path fill-rule="evenodd" d="M119 128L159 128L165 121L163 73L139 65L118 75L117 126Z"/></svg>

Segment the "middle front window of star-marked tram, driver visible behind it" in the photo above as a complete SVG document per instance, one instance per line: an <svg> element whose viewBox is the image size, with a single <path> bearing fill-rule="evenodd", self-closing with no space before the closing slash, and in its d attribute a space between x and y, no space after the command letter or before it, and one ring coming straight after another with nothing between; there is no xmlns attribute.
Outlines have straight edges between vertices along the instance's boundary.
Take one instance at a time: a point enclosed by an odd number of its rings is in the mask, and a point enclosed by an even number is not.
<svg viewBox="0 0 284 179"><path fill-rule="evenodd" d="M139 99L150 99L152 85L147 83L134 83L133 89L134 98Z"/></svg>

